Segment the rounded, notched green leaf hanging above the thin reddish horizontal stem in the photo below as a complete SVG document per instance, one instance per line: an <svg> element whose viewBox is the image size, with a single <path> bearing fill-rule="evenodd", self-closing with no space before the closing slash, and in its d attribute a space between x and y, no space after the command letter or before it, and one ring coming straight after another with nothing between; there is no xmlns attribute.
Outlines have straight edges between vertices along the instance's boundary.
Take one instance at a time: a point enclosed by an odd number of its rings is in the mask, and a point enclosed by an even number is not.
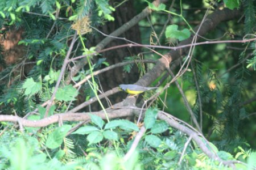
<svg viewBox="0 0 256 170"><path fill-rule="evenodd" d="M188 39L190 37L190 32L187 28L179 31L177 25L169 25L166 28L166 37L167 38L175 38L180 41Z"/></svg>

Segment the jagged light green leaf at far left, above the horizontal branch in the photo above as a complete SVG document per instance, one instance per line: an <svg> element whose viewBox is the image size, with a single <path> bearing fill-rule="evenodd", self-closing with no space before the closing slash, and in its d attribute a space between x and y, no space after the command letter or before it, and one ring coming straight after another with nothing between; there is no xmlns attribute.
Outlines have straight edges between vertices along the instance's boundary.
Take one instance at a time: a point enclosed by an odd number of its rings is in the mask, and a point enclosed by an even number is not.
<svg viewBox="0 0 256 170"><path fill-rule="evenodd" d="M33 78L28 78L25 80L22 86L25 89L25 95L34 95L41 90L41 83L35 82Z"/></svg>

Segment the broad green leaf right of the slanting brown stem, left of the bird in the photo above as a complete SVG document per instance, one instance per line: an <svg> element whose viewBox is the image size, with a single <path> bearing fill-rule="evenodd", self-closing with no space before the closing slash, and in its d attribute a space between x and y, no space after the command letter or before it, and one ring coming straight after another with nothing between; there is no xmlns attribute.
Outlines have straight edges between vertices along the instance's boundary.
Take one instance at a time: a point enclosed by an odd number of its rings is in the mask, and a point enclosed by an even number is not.
<svg viewBox="0 0 256 170"><path fill-rule="evenodd" d="M63 88L58 88L56 92L56 99L63 101L72 101L75 100L75 97L78 95L76 88L72 87L71 84L64 86Z"/></svg>

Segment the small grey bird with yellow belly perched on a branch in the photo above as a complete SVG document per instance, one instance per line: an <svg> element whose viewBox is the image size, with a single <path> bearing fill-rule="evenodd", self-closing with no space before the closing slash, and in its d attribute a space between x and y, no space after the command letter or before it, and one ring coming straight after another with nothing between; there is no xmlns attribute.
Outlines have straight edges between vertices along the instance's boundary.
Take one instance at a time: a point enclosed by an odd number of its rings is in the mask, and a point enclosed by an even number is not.
<svg viewBox="0 0 256 170"><path fill-rule="evenodd" d="M137 84L120 84L118 88L119 90L123 90L130 95L138 95L143 93L144 91L153 90L158 87L143 87Z"/></svg>

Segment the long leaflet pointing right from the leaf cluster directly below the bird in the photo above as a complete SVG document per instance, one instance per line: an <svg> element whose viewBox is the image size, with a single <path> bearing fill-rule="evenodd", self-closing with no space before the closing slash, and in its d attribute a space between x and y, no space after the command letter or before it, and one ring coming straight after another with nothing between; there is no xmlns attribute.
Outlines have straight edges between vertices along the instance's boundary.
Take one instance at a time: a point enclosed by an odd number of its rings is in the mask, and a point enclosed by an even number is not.
<svg viewBox="0 0 256 170"><path fill-rule="evenodd" d="M134 130L134 131L139 131L139 128L136 124L134 124L133 122L130 122L128 120L113 120L108 122L108 124L106 124L104 129L114 129L114 128L121 128L123 130Z"/></svg>

